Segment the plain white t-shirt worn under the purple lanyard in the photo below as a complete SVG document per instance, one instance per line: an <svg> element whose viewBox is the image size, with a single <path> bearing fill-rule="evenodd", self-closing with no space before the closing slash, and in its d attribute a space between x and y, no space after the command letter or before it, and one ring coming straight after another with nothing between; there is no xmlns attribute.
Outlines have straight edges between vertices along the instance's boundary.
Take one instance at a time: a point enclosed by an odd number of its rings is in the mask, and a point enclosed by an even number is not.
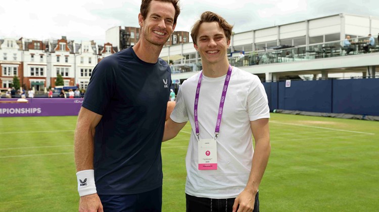
<svg viewBox="0 0 379 212"><path fill-rule="evenodd" d="M257 76L233 67L217 139L217 170L199 170L194 124L199 76L200 73L183 82L170 115L177 123L189 120L193 126L185 158L185 193L207 198L234 198L246 187L250 175L254 153L250 121L270 117L267 95ZM200 139L215 136L225 77L203 76L198 104Z"/></svg>

